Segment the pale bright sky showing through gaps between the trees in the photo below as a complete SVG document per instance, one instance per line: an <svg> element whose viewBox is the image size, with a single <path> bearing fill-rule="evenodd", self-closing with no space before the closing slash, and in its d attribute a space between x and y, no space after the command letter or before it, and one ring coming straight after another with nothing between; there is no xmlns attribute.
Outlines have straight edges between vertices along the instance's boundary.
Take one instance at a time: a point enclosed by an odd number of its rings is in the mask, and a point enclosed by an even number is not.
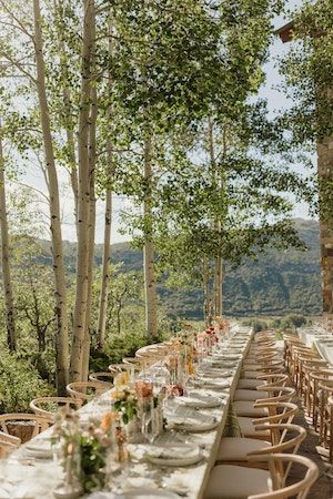
<svg viewBox="0 0 333 499"><path fill-rule="evenodd" d="M290 0L289 7L294 8L302 3L302 0ZM278 29L286 23L290 19L283 17L274 20L274 28ZM273 114L275 110L281 110L287 106L287 102L282 92L279 92L276 85L280 81L280 75L276 68L276 58L285 53L289 49L289 44L283 44L282 41L276 38L270 48L270 59L265 64L266 83L260 91L260 96L268 100L269 110ZM302 166L300 165L300 169ZM44 181L42 179L40 169L38 165L30 165L27 173L22 175L21 182L27 185L31 185L42 192L47 192ZM75 228L73 223L73 198L70 190L69 175L65 171L59 171L60 193L61 193L61 208L62 208L62 231L63 240L75 241ZM113 218L112 218L112 243L120 243L129 241L128 234L120 233L120 213L125 210L128 201L120 196L114 196L113 200ZM294 207L295 217L309 218L307 207L305 204L296 204ZM98 201L97 205L97 243L103 241L103 202Z"/></svg>

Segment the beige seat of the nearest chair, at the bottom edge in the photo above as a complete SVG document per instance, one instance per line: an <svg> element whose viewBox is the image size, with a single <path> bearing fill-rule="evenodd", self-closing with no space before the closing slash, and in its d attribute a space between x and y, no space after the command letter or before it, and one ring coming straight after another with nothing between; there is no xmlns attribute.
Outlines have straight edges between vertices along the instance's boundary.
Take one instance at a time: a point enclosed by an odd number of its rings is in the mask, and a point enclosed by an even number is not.
<svg viewBox="0 0 333 499"><path fill-rule="evenodd" d="M211 471L204 499L248 499L249 496L270 490L272 489L269 471L219 465Z"/></svg>

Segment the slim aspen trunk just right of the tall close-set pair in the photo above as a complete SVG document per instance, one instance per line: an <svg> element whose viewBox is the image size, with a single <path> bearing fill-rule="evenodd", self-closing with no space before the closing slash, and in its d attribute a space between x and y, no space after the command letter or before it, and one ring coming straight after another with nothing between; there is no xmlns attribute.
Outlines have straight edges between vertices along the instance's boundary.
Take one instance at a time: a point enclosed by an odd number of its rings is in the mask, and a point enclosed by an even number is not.
<svg viewBox="0 0 333 499"><path fill-rule="evenodd" d="M113 52L113 39L112 34L112 20L109 19L109 55ZM112 92L112 77L109 74L108 93ZM111 120L112 110L111 105L108 109L108 119ZM107 141L108 150L108 184L111 185L112 181L112 142L109 139ZM110 263L111 263L111 223L112 223L112 191L108 185L105 192L105 217L104 217L104 242L103 242L103 259L102 259L102 275L101 275L101 292L99 299L99 318L98 318L98 349L103 350L105 344L105 328L107 328L107 309L108 309L108 289L110 281Z"/></svg>

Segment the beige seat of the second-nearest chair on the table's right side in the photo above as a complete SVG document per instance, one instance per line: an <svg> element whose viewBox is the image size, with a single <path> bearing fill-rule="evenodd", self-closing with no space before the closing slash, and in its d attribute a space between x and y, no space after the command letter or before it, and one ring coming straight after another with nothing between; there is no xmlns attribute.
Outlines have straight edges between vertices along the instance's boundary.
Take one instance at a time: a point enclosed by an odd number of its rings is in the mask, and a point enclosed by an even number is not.
<svg viewBox="0 0 333 499"><path fill-rule="evenodd" d="M216 461L245 461L249 452L271 447L265 440L242 437L222 437Z"/></svg>

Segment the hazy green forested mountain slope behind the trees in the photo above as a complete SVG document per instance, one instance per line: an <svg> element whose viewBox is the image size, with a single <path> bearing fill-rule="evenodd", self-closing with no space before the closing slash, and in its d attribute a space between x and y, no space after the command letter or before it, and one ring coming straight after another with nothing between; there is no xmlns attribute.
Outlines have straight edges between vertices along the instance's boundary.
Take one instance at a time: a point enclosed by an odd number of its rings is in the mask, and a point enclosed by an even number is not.
<svg viewBox="0 0 333 499"><path fill-rule="evenodd" d="M234 316L317 314L321 310L319 223L295 220L306 252L268 249L258 261L244 259L224 269L224 313ZM46 244L47 242L44 242ZM48 243L49 245L49 243ZM46 245L47 246L47 245ZM65 263L74 272L75 244L64 243ZM95 247L95 263L102 262L102 245ZM142 253L128 243L112 245L112 263L123 271L142 269ZM173 317L202 318L202 289L170 289L159 286L160 301Z"/></svg>

